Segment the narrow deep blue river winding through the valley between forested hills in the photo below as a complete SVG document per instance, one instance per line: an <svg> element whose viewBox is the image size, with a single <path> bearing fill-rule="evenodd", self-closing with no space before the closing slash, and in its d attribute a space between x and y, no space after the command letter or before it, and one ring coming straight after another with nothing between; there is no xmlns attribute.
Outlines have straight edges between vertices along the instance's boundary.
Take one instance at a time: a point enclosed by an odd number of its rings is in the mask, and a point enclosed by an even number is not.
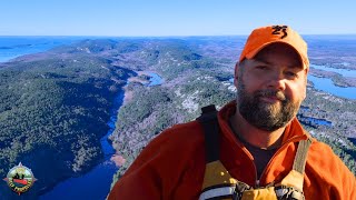
<svg viewBox="0 0 356 200"><path fill-rule="evenodd" d="M148 72L147 74L150 76L149 83L146 84L147 87L158 86L164 82L162 78L157 73ZM111 156L115 153L115 149L109 143L108 137L115 130L115 124L118 120L118 110L122 104L123 94L125 92L121 90L116 97L113 107L110 111L111 117L107 123L110 129L106 136L100 139L101 149L105 153L105 160L86 174L77 178L69 178L58 183L51 191L42 194L40 197L41 200L106 199L110 191L112 176L118 170L113 161L110 160Z"/></svg>

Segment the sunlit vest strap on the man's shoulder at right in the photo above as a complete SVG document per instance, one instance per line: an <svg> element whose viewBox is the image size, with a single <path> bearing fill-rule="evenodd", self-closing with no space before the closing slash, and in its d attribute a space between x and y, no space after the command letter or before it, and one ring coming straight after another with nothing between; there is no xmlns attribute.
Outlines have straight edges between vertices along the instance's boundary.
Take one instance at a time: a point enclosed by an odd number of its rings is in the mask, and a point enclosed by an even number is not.
<svg viewBox="0 0 356 200"><path fill-rule="evenodd" d="M301 140L298 143L298 149L296 157L294 159L293 169L298 171L299 173L304 173L305 164L307 161L307 154L309 147L312 144L312 138L308 136L307 140Z"/></svg>

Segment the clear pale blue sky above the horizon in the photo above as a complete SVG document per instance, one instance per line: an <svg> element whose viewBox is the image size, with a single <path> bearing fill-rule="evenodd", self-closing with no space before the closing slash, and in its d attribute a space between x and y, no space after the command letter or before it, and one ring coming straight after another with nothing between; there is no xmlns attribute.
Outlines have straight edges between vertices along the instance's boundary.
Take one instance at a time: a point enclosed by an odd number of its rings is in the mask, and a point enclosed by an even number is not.
<svg viewBox="0 0 356 200"><path fill-rule="evenodd" d="M354 0L0 0L0 36L356 33Z"/></svg>

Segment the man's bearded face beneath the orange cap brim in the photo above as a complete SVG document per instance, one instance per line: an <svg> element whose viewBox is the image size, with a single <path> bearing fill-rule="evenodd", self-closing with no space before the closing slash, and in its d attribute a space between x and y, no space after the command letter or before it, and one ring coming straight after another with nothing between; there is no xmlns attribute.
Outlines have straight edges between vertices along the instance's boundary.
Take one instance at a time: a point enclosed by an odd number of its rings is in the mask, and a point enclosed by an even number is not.
<svg viewBox="0 0 356 200"><path fill-rule="evenodd" d="M261 130L285 127L306 97L307 70L295 50L281 43L270 44L237 68L235 86L240 114Z"/></svg>

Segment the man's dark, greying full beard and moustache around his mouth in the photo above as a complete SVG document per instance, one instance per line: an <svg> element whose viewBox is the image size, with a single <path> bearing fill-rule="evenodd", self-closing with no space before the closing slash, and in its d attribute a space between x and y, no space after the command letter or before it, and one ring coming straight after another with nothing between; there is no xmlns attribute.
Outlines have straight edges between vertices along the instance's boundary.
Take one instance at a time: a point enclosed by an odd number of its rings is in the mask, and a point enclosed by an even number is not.
<svg viewBox="0 0 356 200"><path fill-rule="evenodd" d="M296 116L301 103L301 101L293 103L278 90L266 89L248 93L241 80L239 80L237 93L240 114L254 127L266 131L285 127ZM263 97L277 98L279 103L264 102L260 100Z"/></svg>

